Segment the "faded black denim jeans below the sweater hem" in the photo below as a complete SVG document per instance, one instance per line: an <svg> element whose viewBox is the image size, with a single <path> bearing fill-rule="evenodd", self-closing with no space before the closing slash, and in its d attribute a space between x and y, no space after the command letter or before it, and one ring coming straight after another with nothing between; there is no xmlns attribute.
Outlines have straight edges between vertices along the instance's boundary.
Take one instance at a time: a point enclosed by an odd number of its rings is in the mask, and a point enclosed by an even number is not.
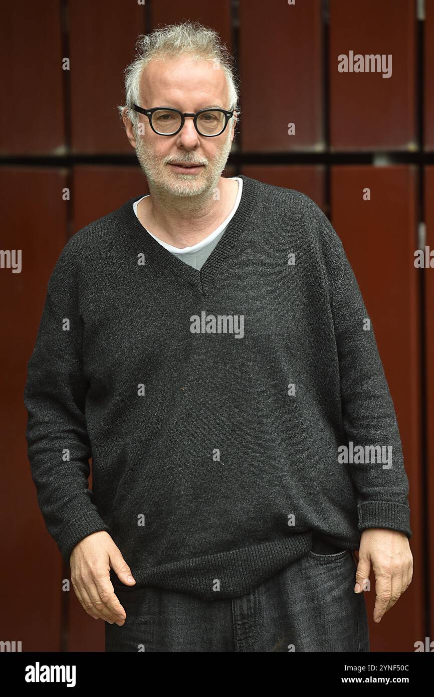
<svg viewBox="0 0 434 697"><path fill-rule="evenodd" d="M330 553L330 552L333 553ZM253 592L205 600L154 586L116 588L127 618L105 623L106 651L369 652L364 593L352 552L314 539Z"/></svg>

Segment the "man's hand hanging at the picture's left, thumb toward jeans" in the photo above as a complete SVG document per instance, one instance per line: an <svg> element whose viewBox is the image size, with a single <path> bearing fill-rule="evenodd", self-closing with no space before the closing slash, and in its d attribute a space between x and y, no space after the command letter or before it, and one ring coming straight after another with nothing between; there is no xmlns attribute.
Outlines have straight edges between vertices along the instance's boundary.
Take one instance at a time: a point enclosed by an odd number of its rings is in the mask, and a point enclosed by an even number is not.
<svg viewBox="0 0 434 697"><path fill-rule="evenodd" d="M72 587L86 613L122 627L127 615L114 593L110 568L125 585L136 582L109 533L100 530L84 537L71 552L70 567Z"/></svg>

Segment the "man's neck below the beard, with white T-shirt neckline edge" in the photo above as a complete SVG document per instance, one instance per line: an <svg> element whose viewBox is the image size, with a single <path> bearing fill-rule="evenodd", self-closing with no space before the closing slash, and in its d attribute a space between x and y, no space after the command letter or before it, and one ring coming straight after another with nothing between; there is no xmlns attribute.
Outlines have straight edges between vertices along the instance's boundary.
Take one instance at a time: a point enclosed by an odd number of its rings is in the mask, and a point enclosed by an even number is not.
<svg viewBox="0 0 434 697"><path fill-rule="evenodd" d="M150 196L137 208L140 222L163 242L181 249L208 237L229 215L238 193L238 183L224 177L193 197L173 196L148 184ZM219 197L215 200L217 187Z"/></svg>

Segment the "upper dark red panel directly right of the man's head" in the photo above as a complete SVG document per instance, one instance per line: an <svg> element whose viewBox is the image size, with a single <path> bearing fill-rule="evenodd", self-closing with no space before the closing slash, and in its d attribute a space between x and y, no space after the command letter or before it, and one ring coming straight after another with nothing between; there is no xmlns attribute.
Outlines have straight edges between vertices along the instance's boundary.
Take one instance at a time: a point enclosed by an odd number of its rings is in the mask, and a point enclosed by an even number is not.
<svg viewBox="0 0 434 697"><path fill-rule="evenodd" d="M319 0L239 6L242 151L323 151Z"/></svg>

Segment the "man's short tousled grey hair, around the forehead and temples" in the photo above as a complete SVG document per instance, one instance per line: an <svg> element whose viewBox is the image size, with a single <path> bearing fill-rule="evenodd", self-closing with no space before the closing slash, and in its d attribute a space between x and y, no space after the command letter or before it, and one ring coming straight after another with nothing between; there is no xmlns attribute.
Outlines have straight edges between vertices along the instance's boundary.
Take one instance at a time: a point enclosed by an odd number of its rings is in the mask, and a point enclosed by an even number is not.
<svg viewBox="0 0 434 697"><path fill-rule="evenodd" d="M137 135L139 114L132 109L133 104L140 104L140 79L144 67L154 59L177 58L188 54L195 59L209 60L217 63L226 76L229 89L229 107L237 109L239 89L235 77L235 60L220 41L217 31L209 29L199 22L181 22L169 24L152 33L141 34L135 46L137 56L124 70L125 75L125 105L118 106L122 114L125 107L127 116L131 119L134 135Z"/></svg>

